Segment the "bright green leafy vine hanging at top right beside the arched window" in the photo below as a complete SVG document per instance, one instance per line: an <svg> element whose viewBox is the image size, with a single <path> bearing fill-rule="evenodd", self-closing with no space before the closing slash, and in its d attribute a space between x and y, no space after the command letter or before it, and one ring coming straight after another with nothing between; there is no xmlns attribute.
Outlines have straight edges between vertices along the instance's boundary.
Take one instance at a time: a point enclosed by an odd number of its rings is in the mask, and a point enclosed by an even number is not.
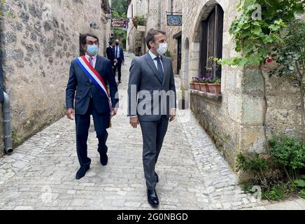
<svg viewBox="0 0 305 224"><path fill-rule="evenodd" d="M262 20L255 19L257 4L262 7ZM271 57L271 44L283 43L280 31L304 12L304 0L243 0L238 6L241 15L229 29L241 57L218 59L219 64L231 66L259 65Z"/></svg>

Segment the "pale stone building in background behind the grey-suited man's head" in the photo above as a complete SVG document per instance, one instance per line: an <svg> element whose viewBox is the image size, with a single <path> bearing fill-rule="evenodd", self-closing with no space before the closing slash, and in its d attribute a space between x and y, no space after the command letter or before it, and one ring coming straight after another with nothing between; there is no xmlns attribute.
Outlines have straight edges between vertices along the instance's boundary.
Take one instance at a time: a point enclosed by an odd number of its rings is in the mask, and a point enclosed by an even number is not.
<svg viewBox="0 0 305 224"><path fill-rule="evenodd" d="M181 30L180 26L167 25L167 13L182 13L182 0L129 0L128 13L129 28L127 32L127 50L129 52L148 52L145 37L147 32L154 29L166 31L167 43L173 60L174 73L178 74L181 69ZM146 29L139 31L132 23L135 15L144 15L146 18Z"/></svg>

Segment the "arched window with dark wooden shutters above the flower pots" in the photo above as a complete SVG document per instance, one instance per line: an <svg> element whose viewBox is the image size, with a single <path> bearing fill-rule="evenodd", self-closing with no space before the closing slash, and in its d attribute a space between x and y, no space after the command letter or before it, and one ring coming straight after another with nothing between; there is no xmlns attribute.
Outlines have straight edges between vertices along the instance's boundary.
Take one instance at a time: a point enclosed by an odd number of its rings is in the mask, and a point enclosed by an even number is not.
<svg viewBox="0 0 305 224"><path fill-rule="evenodd" d="M199 71L206 78L221 78L221 66L213 58L222 58L223 14L221 6L215 5L201 22Z"/></svg>

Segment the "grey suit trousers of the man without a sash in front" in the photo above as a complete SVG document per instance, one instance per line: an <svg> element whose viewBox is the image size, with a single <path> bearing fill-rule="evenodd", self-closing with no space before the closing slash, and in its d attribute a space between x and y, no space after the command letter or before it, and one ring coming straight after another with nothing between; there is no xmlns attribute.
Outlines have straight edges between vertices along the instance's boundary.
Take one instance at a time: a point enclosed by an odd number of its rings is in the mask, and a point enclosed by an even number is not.
<svg viewBox="0 0 305 224"><path fill-rule="evenodd" d="M157 121L141 121L140 125L143 137L143 169L146 186L149 190L154 190L157 185L155 165L162 149L169 119L166 116L162 116Z"/></svg>

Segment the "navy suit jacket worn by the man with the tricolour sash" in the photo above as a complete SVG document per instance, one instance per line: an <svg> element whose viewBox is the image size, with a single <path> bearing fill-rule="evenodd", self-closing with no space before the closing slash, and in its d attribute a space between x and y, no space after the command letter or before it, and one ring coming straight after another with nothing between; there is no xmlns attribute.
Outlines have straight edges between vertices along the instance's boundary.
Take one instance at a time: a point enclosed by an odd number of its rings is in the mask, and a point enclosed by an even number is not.
<svg viewBox="0 0 305 224"><path fill-rule="evenodd" d="M112 107L117 108L119 100L115 99L115 94L118 92L118 85L115 83L111 61L97 55L95 70L99 72L106 83L108 82ZM66 109L74 108L75 98L75 113L84 115L87 112L91 96L98 113L110 113L105 94L94 83L90 82L90 78L80 69L76 59L74 59L71 62L70 76L66 87Z"/></svg>

